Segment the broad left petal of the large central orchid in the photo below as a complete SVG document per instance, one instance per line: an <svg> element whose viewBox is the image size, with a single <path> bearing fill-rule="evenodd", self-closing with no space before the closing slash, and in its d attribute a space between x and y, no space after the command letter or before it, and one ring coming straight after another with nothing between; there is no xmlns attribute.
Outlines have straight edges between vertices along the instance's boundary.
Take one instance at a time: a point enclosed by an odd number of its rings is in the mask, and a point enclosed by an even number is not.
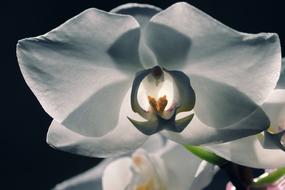
<svg viewBox="0 0 285 190"><path fill-rule="evenodd" d="M88 9L43 36L19 41L18 61L50 116L81 135L100 136L117 124L130 71L142 68L139 33L131 16Z"/></svg>

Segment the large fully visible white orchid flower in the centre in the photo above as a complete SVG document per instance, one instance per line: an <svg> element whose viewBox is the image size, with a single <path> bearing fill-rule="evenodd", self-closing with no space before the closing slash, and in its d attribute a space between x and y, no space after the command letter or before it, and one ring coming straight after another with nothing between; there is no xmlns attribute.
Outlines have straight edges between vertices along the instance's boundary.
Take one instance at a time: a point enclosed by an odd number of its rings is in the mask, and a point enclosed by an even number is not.
<svg viewBox="0 0 285 190"><path fill-rule="evenodd" d="M53 117L47 142L97 157L158 132L192 145L257 134L281 67L276 34L238 32L183 2L88 9L20 40L17 57Z"/></svg>

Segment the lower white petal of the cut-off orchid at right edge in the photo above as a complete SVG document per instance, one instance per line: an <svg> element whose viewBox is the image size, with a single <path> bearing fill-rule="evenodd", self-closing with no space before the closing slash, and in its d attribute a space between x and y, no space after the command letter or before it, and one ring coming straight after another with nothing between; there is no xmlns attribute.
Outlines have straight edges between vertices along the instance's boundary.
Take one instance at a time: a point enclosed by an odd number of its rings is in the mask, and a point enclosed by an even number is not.
<svg viewBox="0 0 285 190"><path fill-rule="evenodd" d="M217 155L232 162L254 168L279 168L285 166L285 152L281 149L266 149L257 136L208 147Z"/></svg>

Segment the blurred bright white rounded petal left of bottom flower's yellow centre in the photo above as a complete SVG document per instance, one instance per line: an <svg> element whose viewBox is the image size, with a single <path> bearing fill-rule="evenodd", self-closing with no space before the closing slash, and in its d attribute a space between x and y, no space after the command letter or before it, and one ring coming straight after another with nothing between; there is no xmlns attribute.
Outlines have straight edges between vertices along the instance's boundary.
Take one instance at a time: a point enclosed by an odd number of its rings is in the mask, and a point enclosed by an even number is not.
<svg viewBox="0 0 285 190"><path fill-rule="evenodd" d="M109 164L102 176L104 190L124 190L133 176L131 172L132 160L123 157Z"/></svg>

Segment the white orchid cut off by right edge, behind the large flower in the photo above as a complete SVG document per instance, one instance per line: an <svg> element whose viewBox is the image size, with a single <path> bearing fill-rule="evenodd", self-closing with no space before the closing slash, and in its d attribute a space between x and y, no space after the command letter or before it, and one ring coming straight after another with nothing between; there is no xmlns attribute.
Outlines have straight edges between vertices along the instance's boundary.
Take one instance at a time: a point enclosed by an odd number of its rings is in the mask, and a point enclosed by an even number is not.
<svg viewBox="0 0 285 190"><path fill-rule="evenodd" d="M228 160L256 168L285 166L285 59L276 89L262 108L270 118L268 131L209 148Z"/></svg>

